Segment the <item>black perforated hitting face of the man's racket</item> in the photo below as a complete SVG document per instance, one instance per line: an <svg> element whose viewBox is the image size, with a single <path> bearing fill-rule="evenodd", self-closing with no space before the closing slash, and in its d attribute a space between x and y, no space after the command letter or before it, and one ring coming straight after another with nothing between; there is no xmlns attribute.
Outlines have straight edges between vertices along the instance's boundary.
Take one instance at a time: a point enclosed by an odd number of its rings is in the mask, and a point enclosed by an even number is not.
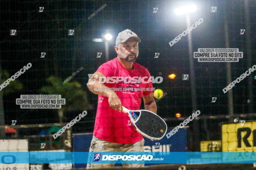
<svg viewBox="0 0 256 170"><path fill-rule="evenodd" d="M140 111L134 124L142 133L144 133L143 136L158 140L163 138L167 131L167 125L164 120L157 114L146 110Z"/></svg>

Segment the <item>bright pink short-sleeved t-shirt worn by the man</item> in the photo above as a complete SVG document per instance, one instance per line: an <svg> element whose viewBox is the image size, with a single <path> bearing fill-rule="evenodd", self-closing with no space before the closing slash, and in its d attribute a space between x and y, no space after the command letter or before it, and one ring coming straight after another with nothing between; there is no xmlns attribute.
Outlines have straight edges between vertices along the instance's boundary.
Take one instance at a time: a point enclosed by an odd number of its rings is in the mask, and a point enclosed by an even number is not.
<svg viewBox="0 0 256 170"><path fill-rule="evenodd" d="M116 57L99 66L97 72L101 72L105 77L150 77L150 73L142 65L134 62L133 66L134 69L132 70L125 69ZM147 83L147 81L148 79L145 78L144 83L136 83L134 81L128 83L129 81L127 79L127 81L119 81L119 83L106 82L104 84L107 87L122 88L121 91L115 91L122 105L130 110L139 110L142 96L147 96L153 92L152 82ZM148 89L145 90L144 87ZM123 88L130 89L123 91ZM134 91L134 88L138 90ZM98 95L98 107L93 131L95 137L108 142L123 144L136 143L143 137L136 131L130 121L127 114L116 111L109 106L108 97Z"/></svg>

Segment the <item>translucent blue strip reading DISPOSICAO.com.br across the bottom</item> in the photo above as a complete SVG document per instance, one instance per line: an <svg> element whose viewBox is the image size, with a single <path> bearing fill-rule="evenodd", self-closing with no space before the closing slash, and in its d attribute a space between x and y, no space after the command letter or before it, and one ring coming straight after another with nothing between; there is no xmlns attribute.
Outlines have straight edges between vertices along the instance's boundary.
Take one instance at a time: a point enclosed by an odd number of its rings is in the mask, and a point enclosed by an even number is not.
<svg viewBox="0 0 256 170"><path fill-rule="evenodd" d="M255 163L254 152L0 152L3 164L13 163L147 163L147 164L214 164Z"/></svg>

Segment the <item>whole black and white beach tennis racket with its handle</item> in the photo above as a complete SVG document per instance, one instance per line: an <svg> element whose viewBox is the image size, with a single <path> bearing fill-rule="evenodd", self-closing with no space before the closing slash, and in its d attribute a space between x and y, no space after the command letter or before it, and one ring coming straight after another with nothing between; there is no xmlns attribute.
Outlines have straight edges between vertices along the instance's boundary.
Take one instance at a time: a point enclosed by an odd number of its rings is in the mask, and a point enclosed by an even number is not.
<svg viewBox="0 0 256 170"><path fill-rule="evenodd" d="M131 119L135 129L146 138L161 140L166 134L165 121L152 111L129 110L123 106L122 109Z"/></svg>

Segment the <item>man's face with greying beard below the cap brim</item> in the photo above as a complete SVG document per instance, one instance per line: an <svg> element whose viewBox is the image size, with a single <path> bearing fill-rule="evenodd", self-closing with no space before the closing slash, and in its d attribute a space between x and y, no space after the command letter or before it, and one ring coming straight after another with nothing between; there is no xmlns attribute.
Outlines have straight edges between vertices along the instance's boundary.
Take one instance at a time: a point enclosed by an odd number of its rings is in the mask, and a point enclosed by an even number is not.
<svg viewBox="0 0 256 170"><path fill-rule="evenodd" d="M124 43L118 45L118 56L125 61L133 62L139 54L138 41L135 38L129 38Z"/></svg>

